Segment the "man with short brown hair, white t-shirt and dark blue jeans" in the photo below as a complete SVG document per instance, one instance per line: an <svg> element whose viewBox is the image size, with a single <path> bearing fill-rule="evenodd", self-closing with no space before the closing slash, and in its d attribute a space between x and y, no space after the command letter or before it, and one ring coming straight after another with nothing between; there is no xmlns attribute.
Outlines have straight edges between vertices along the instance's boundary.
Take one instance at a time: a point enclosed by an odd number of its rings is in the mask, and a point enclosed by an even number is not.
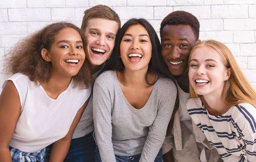
<svg viewBox="0 0 256 162"><path fill-rule="evenodd" d="M113 51L120 27L119 16L108 6L97 5L84 11L81 29L86 38L84 51L93 74L92 84ZM93 139L92 107L91 97L73 134L65 161L94 162L96 144Z"/></svg>

